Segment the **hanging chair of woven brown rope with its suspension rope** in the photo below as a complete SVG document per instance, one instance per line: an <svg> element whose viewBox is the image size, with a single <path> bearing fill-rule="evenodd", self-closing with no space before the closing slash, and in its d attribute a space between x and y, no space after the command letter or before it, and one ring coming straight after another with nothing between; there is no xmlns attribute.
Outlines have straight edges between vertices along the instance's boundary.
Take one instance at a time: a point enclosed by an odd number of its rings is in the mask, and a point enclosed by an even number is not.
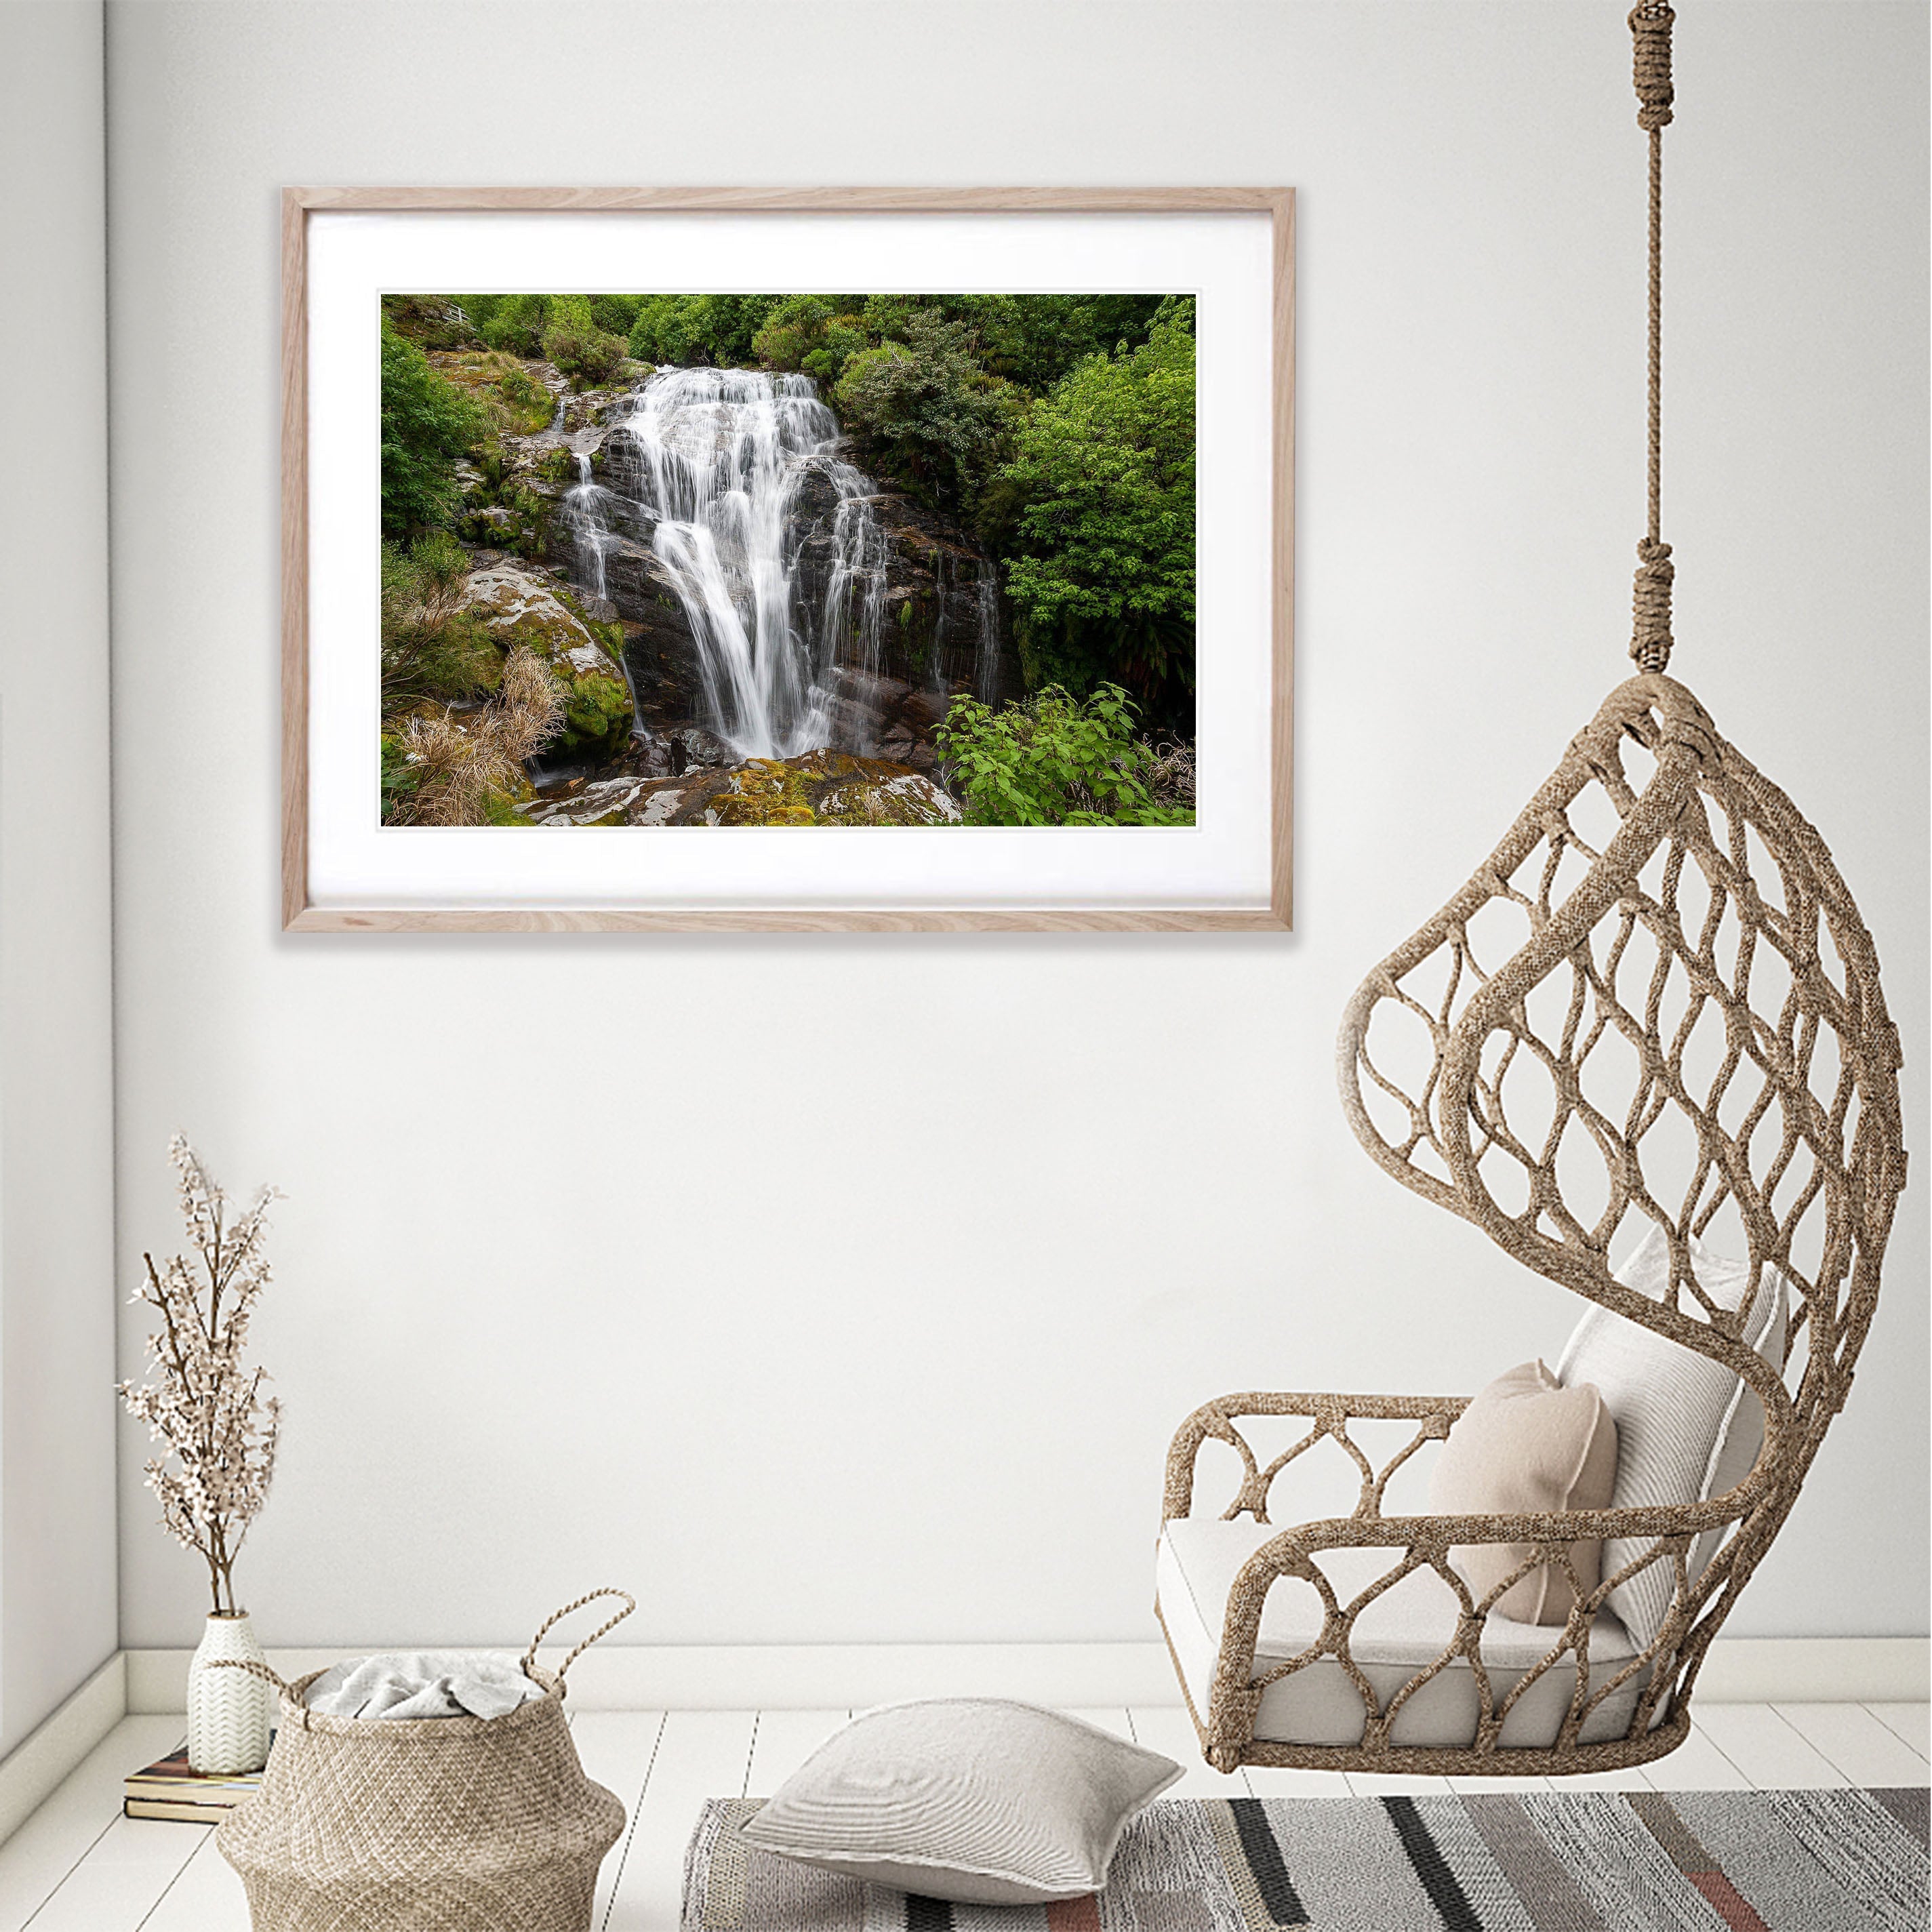
<svg viewBox="0 0 1932 1932"><path fill-rule="evenodd" d="M1791 1513L1878 1302L1905 1150L1897 1030L1870 933L1812 825L1665 676L1658 398L1671 19L1662 0L1631 15L1650 135L1650 529L1631 645L1640 670L1609 694L1463 891L1368 976L1343 1018L1339 1070L1349 1122L1389 1175L1559 1287L1741 1378L1764 1406L1764 1445L1741 1482L1690 1503L1393 1515L1391 1478L1449 1435L1466 1401L1208 1403L1169 1451L1161 1621L1202 1747L1223 1772L1577 1774L1677 1747L1710 1640ZM1611 1244L1634 1233L1667 1246L1658 1298L1611 1271ZM1735 1306L1706 1289L1708 1238L1748 1256ZM1791 1314L1783 1347L1766 1350L1745 1323L1760 1287L1779 1277ZM1271 1416L1308 1426L1264 1463L1250 1437L1256 1418ZM1358 1437L1391 1426L1393 1455L1378 1463ZM1192 1519L1208 1441L1240 1459L1238 1493L1219 1519L1229 1530ZM1358 1478L1352 1515L1264 1536L1275 1478L1323 1443ZM1225 1575L1211 1582L1202 1538L1231 1534L1246 1542L1227 1546ZM1596 1538L1602 1577L1578 1577L1571 1549ZM1528 1555L1476 1594L1451 1551L1484 1544ZM1499 1646L1497 1598L1540 1565L1567 1575L1575 1605L1532 1638L1507 1625ZM1605 1600L1646 1571L1665 1586L1654 1633L1617 1625L1621 1642L1609 1642ZM1387 1621L1393 1592L1412 1594L1418 1580L1443 1607L1430 1642L1416 1648L1410 1631L1405 1650L1374 1625ZM1271 1596L1293 1594L1283 1586L1312 1600L1298 1634L1269 1646L1264 1615ZM1211 1669L1186 1654L1182 1602L1208 1605ZM1318 1679L1329 1687L1325 1716ZM1451 1681L1463 1731L1445 1743ZM1258 1735L1264 1708L1289 1710L1298 1683L1310 1689L1298 1723L1277 1719ZM1416 1721L1432 1704L1434 1729Z"/></svg>

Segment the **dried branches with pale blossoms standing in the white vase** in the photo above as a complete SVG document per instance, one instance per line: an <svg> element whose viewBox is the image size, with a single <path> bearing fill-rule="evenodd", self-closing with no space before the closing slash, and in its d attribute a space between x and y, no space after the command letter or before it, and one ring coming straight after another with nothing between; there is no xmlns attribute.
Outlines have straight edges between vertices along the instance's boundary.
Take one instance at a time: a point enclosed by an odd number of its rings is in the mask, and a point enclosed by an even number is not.
<svg viewBox="0 0 1932 1932"><path fill-rule="evenodd" d="M228 1196L176 1134L168 1142L182 1219L195 1262L174 1254L158 1267L143 1254L147 1279L133 1293L160 1314L147 1337L153 1379L120 1383L128 1412L166 1447L147 1464L168 1534L209 1565L214 1613L236 1613L234 1563L249 1524L269 1501L282 1405L261 1393L267 1374L242 1366L249 1318L269 1287L269 1202L263 1188L230 1219Z"/></svg>

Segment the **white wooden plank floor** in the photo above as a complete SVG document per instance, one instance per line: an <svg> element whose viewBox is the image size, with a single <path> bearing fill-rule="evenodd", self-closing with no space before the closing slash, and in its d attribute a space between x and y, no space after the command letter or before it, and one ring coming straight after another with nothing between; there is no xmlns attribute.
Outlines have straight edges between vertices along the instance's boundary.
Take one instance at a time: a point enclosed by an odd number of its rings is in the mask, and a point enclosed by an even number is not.
<svg viewBox="0 0 1932 1932"><path fill-rule="evenodd" d="M684 1841L703 1799L765 1797L850 1714L842 1710L582 1712L583 1768L630 1812L605 1861L593 1924L603 1932L676 1932ZM1349 1791L1447 1791L1441 1777L1343 1777L1252 1770L1221 1777L1200 1762L1179 1708L1078 1716L1188 1764L1173 1797L1343 1797ZM0 1845L0 1932L247 1932L242 1886L205 1826L120 1816L120 1783L182 1741L180 1718L128 1718ZM1567 1785L1739 1789L1750 1785L1924 1785L1924 1704L1702 1704L1696 1733L1642 1772ZM1542 1787L1542 1779L1524 1779ZM1470 1779L1468 1789L1499 1789Z"/></svg>

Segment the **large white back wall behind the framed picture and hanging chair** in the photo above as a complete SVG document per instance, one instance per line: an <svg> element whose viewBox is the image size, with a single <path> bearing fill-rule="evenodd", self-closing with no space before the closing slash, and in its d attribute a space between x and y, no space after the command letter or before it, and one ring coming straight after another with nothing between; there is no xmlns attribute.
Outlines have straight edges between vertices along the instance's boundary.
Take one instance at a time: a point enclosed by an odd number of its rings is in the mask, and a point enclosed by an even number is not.
<svg viewBox="0 0 1932 1932"><path fill-rule="evenodd" d="M1924 1148L1924 12L1681 41L1673 668L1833 842ZM1621 0L139 4L108 46L122 1275L176 1122L290 1194L270 1640L506 1642L603 1580L636 1640L1140 1638L1196 1401L1559 1347L1356 1150L1331 1041L1627 670ZM715 180L1300 187L1293 937L278 933L276 189ZM1926 1627L1924 1204L1737 1634ZM122 1636L182 1644L137 1449Z"/></svg>

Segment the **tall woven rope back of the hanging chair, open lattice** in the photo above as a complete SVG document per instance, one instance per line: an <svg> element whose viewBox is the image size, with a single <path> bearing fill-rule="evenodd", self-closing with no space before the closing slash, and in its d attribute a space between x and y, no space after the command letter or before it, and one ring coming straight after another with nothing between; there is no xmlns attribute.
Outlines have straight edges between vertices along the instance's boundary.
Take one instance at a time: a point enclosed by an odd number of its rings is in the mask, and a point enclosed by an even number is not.
<svg viewBox="0 0 1932 1932"><path fill-rule="evenodd" d="M1845 1403L1905 1182L1897 1066L1824 840L1662 674L1611 692L1343 1020L1343 1105L1387 1173L1764 1403L1735 1534L1694 1580L1677 1569L1658 1671L1679 1696ZM1611 1273L1652 1225L1662 1302ZM1739 1312L1700 1289L1692 1238L1748 1256ZM1781 1376L1741 1339L1766 1269L1793 1296ZM1681 1542L1652 1559L1681 1565Z"/></svg>

